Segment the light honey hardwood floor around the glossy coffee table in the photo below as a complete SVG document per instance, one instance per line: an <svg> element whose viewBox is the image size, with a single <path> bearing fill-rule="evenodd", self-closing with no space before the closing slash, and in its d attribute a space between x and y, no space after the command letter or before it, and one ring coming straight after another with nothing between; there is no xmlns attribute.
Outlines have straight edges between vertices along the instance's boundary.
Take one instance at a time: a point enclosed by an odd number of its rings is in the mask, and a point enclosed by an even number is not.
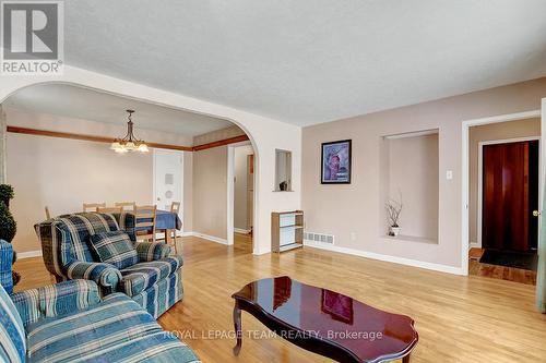
<svg viewBox="0 0 546 363"><path fill-rule="evenodd" d="M419 342L412 362L546 362L546 315L535 311L534 287L480 276L453 276L316 249L253 256L185 238L183 300L159 318L203 362L331 362L281 338L244 337L232 354L233 299L251 280L288 275L302 282L351 295L372 306L410 315ZM17 287L49 283L39 258L16 263ZM247 332L266 332L244 313ZM224 336L214 338L216 331Z"/></svg>

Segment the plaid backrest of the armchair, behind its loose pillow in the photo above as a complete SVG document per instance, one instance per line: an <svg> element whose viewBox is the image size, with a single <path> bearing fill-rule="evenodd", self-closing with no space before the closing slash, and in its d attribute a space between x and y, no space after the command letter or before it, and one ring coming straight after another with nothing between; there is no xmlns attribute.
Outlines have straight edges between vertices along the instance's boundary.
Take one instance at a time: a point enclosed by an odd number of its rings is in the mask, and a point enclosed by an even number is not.
<svg viewBox="0 0 546 363"><path fill-rule="evenodd" d="M82 262L96 262L87 245L90 235L119 230L118 221L110 214L78 213L60 216L56 220L61 222L58 228L72 240L72 258Z"/></svg>

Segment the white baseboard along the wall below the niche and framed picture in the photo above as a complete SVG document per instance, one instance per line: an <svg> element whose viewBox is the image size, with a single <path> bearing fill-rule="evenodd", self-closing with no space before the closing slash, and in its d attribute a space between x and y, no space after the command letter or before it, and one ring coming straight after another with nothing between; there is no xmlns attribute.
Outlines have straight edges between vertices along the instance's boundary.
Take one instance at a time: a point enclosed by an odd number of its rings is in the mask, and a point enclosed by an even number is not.
<svg viewBox="0 0 546 363"><path fill-rule="evenodd" d="M309 247L332 251L332 252L345 253L345 254L355 255L355 256L359 256L359 257L390 262L390 263L400 264L400 265L431 269L431 270L440 271L440 273L448 273L448 274L453 274L453 275L466 275L465 271L461 270L461 267L432 264L432 263L427 263L427 262L417 261L417 259L410 259L410 258L404 258L404 257L383 255L380 253L367 252L367 251L355 250L355 249L340 247L340 246L319 243L319 242L314 242L314 241L310 241L310 240L304 240L304 245L309 246Z"/></svg>

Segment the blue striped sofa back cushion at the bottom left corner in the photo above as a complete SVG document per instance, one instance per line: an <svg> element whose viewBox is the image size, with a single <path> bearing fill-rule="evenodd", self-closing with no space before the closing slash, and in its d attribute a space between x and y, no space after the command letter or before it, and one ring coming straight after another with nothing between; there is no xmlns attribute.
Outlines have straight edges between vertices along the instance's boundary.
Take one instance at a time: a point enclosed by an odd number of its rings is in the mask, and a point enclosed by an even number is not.
<svg viewBox="0 0 546 363"><path fill-rule="evenodd" d="M23 320L0 285L0 362L24 362L25 351Z"/></svg>

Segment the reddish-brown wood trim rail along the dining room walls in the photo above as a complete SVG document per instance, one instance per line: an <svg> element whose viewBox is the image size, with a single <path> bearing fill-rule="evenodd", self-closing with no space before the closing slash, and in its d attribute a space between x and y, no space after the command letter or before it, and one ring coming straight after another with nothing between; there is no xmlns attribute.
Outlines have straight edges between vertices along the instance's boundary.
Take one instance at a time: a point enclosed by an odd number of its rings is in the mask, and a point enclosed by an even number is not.
<svg viewBox="0 0 546 363"><path fill-rule="evenodd" d="M76 133L72 133L72 132L62 132L62 131L38 130L38 129L31 129L31 128L8 126L7 131L11 132L11 133L15 133L15 134L81 140L81 141L90 141L90 142L94 142L94 143L110 144L111 142L114 142L112 137L76 134ZM240 136L219 140L216 142L212 142L212 143L207 143L207 144L203 144L203 145L198 145L198 146L193 146L193 147L192 146L183 146L183 145L161 144L161 143L146 143L146 144L149 147L153 147L153 148L165 148L165 149L181 150L181 152L200 152L200 150L205 150L207 148L240 143L240 142L244 142L247 140L249 140L249 137L247 135L240 135Z"/></svg>

